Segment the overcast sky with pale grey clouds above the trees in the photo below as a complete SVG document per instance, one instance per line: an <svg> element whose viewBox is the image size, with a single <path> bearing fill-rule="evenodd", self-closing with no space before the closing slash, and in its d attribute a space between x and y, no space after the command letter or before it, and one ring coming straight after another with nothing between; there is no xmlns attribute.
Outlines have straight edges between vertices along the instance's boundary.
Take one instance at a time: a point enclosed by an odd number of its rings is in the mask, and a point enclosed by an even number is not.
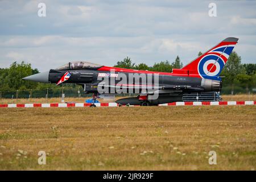
<svg viewBox="0 0 256 182"><path fill-rule="evenodd" d="M40 71L76 60L112 66L126 56L153 65L179 55L186 64L229 36L239 38L242 63L256 63L256 1L0 0L0 17L1 68L22 60Z"/></svg>

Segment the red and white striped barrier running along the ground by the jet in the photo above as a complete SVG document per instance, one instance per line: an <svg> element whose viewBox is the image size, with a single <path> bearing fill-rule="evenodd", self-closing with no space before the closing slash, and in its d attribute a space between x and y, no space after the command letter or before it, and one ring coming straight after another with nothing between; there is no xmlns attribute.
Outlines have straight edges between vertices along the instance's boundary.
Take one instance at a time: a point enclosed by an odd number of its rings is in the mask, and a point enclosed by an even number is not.
<svg viewBox="0 0 256 182"><path fill-rule="evenodd" d="M97 107L117 107L115 102L95 103ZM171 102L159 106L201 106L201 105L256 105L256 101L219 101L219 102ZM89 107L88 103L51 103L51 104L0 104L0 107ZM130 105L139 106L139 105Z"/></svg>

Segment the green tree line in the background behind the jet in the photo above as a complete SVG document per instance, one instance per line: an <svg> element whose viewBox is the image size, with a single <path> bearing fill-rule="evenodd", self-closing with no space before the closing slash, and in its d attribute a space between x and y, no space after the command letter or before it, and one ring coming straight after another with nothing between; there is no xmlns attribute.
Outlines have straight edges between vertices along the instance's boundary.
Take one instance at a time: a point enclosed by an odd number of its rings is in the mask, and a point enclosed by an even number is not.
<svg viewBox="0 0 256 182"><path fill-rule="evenodd" d="M199 56L201 54L202 53L199 52ZM168 60L160 61L152 66L145 63L135 64L130 57L125 57L125 59L117 61L117 64L115 64L114 67L157 72L172 72L173 68L182 68L183 63L179 56L177 56L173 62ZM55 84L44 84L22 80L23 77L34 75L36 73L39 73L38 69L33 69L31 64L24 63L23 61L20 64L14 62L9 68L0 68L1 96L5 97L4 93L15 93L16 90L19 90L20 92L22 90L26 92L33 90L34 93L46 93L46 90L48 90L50 94L52 93L52 96L60 96L63 87L66 93L72 92L74 93L74 96L77 95L79 86L75 84L56 86ZM241 56L236 52L232 52L229 56L228 62L225 64L225 67L221 72L221 76L223 81L222 93L252 93L253 89L256 88L256 64L242 64Z"/></svg>

